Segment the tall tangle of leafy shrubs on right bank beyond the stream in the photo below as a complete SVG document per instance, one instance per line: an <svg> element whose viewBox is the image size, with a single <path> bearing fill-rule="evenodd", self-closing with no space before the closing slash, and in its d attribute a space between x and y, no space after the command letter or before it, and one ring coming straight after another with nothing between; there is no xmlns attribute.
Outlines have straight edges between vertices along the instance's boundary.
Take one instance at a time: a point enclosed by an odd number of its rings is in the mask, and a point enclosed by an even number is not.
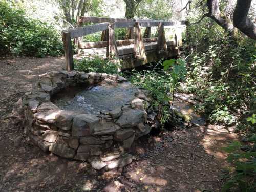
<svg viewBox="0 0 256 192"><path fill-rule="evenodd" d="M244 37L230 39L209 19L188 27L185 41L188 75L181 91L200 98L196 109L210 122L220 124L232 124L253 113L255 41Z"/></svg>

